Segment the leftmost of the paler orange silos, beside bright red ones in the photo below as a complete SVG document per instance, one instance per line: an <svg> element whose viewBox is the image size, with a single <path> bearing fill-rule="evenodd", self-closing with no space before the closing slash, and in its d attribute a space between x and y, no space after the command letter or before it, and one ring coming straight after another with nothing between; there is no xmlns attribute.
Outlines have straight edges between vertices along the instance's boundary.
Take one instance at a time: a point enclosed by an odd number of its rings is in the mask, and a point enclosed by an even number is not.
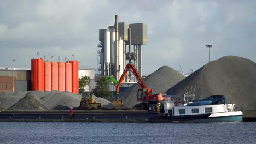
<svg viewBox="0 0 256 144"><path fill-rule="evenodd" d="M44 62L44 91L51 91L51 62Z"/></svg>

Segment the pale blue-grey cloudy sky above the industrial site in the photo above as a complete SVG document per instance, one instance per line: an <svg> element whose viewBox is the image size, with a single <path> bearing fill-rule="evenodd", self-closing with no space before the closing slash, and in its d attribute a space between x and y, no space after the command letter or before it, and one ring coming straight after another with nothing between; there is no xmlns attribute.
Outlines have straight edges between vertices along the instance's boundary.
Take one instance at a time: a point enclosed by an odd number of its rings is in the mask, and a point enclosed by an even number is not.
<svg viewBox="0 0 256 144"><path fill-rule="evenodd" d="M168 65L190 73L223 56L256 62L256 1L1 0L0 67L30 68L31 59L74 59L97 69L98 30L147 23L142 75Z"/></svg>

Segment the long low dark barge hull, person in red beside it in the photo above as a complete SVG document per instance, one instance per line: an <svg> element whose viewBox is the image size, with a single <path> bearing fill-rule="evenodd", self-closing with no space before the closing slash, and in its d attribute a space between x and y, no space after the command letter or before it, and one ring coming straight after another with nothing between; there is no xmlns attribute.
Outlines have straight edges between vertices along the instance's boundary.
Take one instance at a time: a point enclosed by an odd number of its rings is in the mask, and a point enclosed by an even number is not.
<svg viewBox="0 0 256 144"><path fill-rule="evenodd" d="M158 116L148 111L2 111L2 122L148 122Z"/></svg>

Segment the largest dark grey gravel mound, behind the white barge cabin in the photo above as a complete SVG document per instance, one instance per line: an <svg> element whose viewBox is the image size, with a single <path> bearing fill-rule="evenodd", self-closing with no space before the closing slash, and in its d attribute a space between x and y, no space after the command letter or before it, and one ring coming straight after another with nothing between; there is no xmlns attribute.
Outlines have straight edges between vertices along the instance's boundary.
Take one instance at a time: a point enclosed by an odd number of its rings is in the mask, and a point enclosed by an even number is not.
<svg viewBox="0 0 256 144"><path fill-rule="evenodd" d="M225 95L228 103L241 110L256 109L256 64L249 59L225 56L212 61L168 89L167 94L184 94L191 86L196 99Z"/></svg>

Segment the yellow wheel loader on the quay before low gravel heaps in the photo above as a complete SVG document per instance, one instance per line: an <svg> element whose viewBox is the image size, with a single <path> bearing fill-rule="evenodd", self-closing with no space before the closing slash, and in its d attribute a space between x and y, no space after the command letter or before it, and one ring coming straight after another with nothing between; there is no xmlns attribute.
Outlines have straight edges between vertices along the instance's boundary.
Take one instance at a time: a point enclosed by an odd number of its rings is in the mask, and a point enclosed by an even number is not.
<svg viewBox="0 0 256 144"><path fill-rule="evenodd" d="M96 103L90 91L83 91L80 101L79 110L99 110L101 109L101 103Z"/></svg>

